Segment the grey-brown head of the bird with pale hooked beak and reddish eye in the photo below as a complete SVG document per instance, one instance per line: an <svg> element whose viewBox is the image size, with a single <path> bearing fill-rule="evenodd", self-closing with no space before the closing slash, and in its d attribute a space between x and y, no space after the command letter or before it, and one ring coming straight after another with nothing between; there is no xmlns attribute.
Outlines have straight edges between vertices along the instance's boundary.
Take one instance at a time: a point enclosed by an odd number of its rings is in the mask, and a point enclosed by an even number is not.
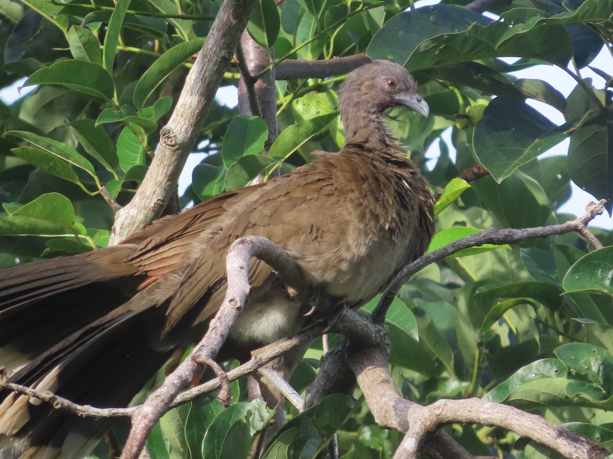
<svg viewBox="0 0 613 459"><path fill-rule="evenodd" d="M349 73L341 84L338 107L347 138L360 129L381 124L381 114L387 108L403 106L428 116L430 109L417 93L413 76L390 61L374 61Z"/></svg>

